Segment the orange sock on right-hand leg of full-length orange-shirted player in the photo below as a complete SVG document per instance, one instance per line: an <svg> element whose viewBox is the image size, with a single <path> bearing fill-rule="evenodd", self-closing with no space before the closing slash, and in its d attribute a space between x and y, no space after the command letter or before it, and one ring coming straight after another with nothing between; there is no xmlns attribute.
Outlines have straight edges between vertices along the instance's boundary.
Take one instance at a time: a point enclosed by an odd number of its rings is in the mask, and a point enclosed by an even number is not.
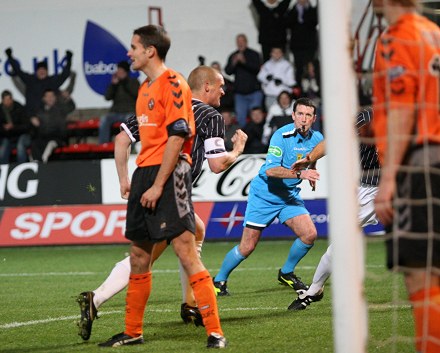
<svg viewBox="0 0 440 353"><path fill-rule="evenodd" d="M215 332L223 336L218 316L217 298L214 292L211 276L207 270L189 277L189 283L194 290L197 306L202 314L208 336Z"/></svg>

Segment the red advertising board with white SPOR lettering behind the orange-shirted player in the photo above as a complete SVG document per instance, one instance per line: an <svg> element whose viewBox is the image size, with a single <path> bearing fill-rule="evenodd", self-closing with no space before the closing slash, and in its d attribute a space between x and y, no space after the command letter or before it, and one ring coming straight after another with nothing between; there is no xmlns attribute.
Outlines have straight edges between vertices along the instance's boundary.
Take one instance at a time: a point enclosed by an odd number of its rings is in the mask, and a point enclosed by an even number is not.
<svg viewBox="0 0 440 353"><path fill-rule="evenodd" d="M194 207L207 222L212 202ZM128 243L125 216L123 204L5 208L0 246Z"/></svg>

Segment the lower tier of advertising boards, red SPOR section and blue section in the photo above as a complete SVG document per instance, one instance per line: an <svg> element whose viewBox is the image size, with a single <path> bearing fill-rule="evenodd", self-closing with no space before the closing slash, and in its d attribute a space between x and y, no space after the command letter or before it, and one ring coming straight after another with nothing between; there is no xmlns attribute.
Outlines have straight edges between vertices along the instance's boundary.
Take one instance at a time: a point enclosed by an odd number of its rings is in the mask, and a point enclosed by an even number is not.
<svg viewBox="0 0 440 353"><path fill-rule="evenodd" d="M327 235L325 200L306 200L319 236ZM195 202L194 208L211 240L239 239L243 231L245 201ZM128 243L124 238L126 206L82 205L11 207L0 213L0 246ZM378 232L370 226L366 233ZM292 237L278 220L263 231L263 238Z"/></svg>

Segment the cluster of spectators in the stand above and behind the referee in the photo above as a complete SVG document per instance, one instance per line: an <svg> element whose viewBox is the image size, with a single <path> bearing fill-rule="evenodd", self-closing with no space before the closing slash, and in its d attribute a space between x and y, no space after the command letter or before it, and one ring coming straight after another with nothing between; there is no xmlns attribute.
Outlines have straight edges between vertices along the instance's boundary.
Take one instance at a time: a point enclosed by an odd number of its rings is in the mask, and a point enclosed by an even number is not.
<svg viewBox="0 0 440 353"><path fill-rule="evenodd" d="M314 129L323 129L318 12L309 0L252 0L252 5L261 52L249 48L246 34L240 33L224 72L218 62L212 66L227 80L227 103L221 106L226 130L246 132L245 153L265 153L272 134L292 123L293 103L300 97L315 102Z"/></svg>

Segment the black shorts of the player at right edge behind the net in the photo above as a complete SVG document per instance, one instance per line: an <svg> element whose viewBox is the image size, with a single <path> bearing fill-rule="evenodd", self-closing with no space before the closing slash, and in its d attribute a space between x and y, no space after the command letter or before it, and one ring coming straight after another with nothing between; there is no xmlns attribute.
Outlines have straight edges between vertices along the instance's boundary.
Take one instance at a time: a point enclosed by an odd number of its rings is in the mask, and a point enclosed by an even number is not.
<svg viewBox="0 0 440 353"><path fill-rule="evenodd" d="M421 150L421 149L420 149ZM440 270L440 163L429 171L419 161L397 175L395 224L387 227L387 266ZM412 159L413 161L413 159Z"/></svg>

